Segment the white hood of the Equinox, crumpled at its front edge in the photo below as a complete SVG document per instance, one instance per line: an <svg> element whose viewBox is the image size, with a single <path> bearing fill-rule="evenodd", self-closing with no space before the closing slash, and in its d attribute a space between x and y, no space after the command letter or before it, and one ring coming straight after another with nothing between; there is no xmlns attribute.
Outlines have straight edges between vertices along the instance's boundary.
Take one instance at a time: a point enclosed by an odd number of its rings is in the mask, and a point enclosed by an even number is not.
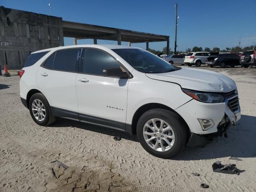
<svg viewBox="0 0 256 192"><path fill-rule="evenodd" d="M179 84L182 88L204 92L230 92L236 89L235 82L220 73L193 68L182 68L177 71L149 74L151 79Z"/></svg>

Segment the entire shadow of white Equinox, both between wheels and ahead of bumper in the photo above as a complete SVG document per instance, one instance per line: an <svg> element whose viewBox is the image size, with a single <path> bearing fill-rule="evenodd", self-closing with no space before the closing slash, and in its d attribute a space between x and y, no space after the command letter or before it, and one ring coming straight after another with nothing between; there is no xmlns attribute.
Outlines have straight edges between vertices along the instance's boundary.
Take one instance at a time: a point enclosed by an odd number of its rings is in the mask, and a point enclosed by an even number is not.
<svg viewBox="0 0 256 192"><path fill-rule="evenodd" d="M210 141L205 147L185 147L183 152L172 160L206 160L236 156L238 158L256 157L256 117L242 115L236 126L228 130L228 138L218 137ZM123 139L138 142L136 135L129 135L126 132L96 126L92 124L76 122L64 118L57 118L52 127L80 128L110 136L119 136Z"/></svg>

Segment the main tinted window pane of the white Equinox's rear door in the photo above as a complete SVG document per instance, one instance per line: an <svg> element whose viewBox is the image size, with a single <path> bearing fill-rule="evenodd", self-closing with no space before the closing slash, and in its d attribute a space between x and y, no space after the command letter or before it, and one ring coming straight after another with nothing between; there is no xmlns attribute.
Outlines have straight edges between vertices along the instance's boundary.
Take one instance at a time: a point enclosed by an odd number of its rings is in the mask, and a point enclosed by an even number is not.
<svg viewBox="0 0 256 192"><path fill-rule="evenodd" d="M64 49L56 52L53 70L78 72L81 49Z"/></svg>

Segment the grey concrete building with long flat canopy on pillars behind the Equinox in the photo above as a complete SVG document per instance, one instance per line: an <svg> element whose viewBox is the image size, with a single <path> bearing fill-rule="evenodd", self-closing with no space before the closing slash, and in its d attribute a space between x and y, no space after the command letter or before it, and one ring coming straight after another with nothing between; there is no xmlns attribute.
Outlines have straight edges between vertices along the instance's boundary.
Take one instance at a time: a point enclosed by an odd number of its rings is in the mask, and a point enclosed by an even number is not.
<svg viewBox="0 0 256 192"><path fill-rule="evenodd" d="M64 46L64 36L80 39L116 40L121 42L146 43L166 41L169 36L110 28L91 24L63 21L60 17L14 10L0 6L0 64L8 69L21 69L31 52Z"/></svg>

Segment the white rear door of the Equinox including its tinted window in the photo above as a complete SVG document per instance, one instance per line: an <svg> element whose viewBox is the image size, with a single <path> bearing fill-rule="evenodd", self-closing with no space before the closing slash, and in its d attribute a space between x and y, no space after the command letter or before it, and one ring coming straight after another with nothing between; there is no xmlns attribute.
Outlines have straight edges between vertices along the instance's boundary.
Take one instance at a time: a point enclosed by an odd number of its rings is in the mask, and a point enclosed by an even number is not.
<svg viewBox="0 0 256 192"><path fill-rule="evenodd" d="M38 68L37 85L50 105L57 110L77 113L76 76L80 50L58 50Z"/></svg>

